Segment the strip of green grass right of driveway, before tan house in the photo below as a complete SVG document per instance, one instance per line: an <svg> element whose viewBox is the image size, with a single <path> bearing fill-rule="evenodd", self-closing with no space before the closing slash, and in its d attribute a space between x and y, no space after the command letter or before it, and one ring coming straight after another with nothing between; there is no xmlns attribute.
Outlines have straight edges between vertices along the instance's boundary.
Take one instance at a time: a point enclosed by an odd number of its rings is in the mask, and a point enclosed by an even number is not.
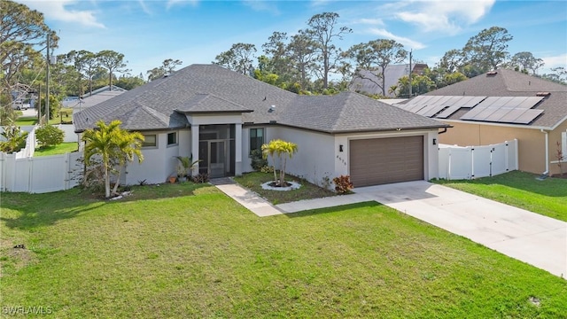
<svg viewBox="0 0 567 319"><path fill-rule="evenodd" d="M538 181L538 176L513 171L475 180L433 182L567 222L567 179Z"/></svg>

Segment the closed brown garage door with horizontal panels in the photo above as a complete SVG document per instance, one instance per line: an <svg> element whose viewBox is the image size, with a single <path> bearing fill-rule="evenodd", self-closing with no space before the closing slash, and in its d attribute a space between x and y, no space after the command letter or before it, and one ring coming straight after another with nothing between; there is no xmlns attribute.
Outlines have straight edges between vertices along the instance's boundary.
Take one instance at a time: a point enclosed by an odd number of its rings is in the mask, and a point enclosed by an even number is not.
<svg viewBox="0 0 567 319"><path fill-rule="evenodd" d="M423 136L350 141L354 187L423 180Z"/></svg>

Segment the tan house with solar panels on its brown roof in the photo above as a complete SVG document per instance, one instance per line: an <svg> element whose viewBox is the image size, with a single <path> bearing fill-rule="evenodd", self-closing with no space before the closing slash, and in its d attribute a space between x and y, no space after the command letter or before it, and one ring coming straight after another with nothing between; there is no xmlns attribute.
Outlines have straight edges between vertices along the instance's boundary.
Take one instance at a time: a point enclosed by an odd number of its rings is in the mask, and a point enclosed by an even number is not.
<svg viewBox="0 0 567 319"><path fill-rule="evenodd" d="M477 146L518 140L518 167L556 175L567 155L567 86L496 70L414 97L400 108L453 126L442 144ZM567 158L563 159L567 172Z"/></svg>

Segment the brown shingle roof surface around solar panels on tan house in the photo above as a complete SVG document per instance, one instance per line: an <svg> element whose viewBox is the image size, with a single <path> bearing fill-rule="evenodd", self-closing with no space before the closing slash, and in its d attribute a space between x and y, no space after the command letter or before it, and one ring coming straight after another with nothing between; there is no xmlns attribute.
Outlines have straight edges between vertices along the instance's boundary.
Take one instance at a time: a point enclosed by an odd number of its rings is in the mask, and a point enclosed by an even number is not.
<svg viewBox="0 0 567 319"><path fill-rule="evenodd" d="M539 104L534 105L532 109L543 111L528 125L538 128L555 128L567 119L567 85L508 69L480 74L469 80L433 90L423 96L536 97L536 95L542 96L541 93L544 93L545 98ZM550 94L546 96L546 93ZM411 103L411 101L408 101L408 103ZM465 112L465 110L461 110L453 113L447 119L439 120L468 121L461 120ZM431 118L436 118L436 115L433 114Z"/></svg>

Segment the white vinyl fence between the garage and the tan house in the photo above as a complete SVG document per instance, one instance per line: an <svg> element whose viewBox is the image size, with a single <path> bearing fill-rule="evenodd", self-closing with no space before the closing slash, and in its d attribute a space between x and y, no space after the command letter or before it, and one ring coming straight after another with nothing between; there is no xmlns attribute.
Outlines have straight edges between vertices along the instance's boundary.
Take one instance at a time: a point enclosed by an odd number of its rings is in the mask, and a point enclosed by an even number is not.
<svg viewBox="0 0 567 319"><path fill-rule="evenodd" d="M439 144L439 178L474 179L517 170L517 140L483 146Z"/></svg>

